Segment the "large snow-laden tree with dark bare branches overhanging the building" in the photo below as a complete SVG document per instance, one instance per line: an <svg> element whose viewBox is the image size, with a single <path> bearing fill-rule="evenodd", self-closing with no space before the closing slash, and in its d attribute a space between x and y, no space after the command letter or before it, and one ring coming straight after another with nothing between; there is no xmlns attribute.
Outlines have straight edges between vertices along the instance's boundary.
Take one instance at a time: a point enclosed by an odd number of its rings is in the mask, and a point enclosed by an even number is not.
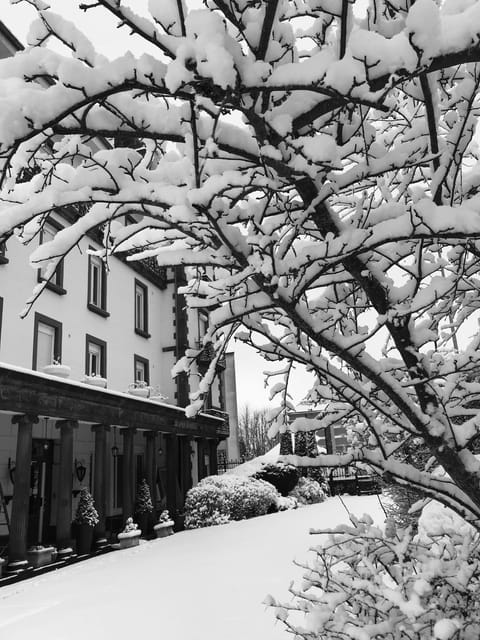
<svg viewBox="0 0 480 640"><path fill-rule="evenodd" d="M148 51L110 62L29 1L33 46L0 63L0 238L74 221L33 252L26 312L92 229L105 259L185 265L215 350L204 375L194 345L177 365L199 375L188 415L237 332L279 363L272 435L306 366L327 413L311 428L354 418L362 436L319 465L364 461L479 527L478 3L84 0ZM398 457L412 438L449 478Z"/></svg>

